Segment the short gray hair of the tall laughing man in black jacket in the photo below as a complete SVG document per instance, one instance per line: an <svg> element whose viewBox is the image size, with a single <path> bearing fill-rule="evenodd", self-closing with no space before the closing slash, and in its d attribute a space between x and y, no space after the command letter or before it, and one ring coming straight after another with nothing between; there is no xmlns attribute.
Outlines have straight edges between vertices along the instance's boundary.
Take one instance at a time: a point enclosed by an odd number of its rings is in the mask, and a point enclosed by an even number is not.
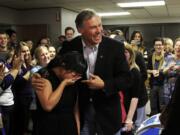
<svg viewBox="0 0 180 135"><path fill-rule="evenodd" d="M91 19L93 16L98 16L95 10L93 9L84 9L82 10L76 17L75 23L76 28L80 28L83 26L83 22L85 20Z"/></svg>

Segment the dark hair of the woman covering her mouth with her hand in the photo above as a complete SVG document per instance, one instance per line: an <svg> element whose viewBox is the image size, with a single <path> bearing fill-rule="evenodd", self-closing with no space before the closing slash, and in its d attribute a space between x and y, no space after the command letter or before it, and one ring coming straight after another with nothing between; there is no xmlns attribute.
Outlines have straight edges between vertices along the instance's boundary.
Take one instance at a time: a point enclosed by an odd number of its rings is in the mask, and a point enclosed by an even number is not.
<svg viewBox="0 0 180 135"><path fill-rule="evenodd" d="M77 51L67 52L63 55L57 55L50 61L47 68L63 67L66 70L72 70L80 74L84 74L87 69L87 63L84 57Z"/></svg>

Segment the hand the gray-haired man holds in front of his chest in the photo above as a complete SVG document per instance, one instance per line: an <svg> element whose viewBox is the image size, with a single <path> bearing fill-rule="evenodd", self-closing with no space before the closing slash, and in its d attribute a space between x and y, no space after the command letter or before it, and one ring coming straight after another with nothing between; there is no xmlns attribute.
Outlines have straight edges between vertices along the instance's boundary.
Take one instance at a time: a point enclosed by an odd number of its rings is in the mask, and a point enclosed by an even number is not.
<svg viewBox="0 0 180 135"><path fill-rule="evenodd" d="M82 80L82 83L86 83L91 89L103 89L104 81L97 75L90 74L89 80Z"/></svg>

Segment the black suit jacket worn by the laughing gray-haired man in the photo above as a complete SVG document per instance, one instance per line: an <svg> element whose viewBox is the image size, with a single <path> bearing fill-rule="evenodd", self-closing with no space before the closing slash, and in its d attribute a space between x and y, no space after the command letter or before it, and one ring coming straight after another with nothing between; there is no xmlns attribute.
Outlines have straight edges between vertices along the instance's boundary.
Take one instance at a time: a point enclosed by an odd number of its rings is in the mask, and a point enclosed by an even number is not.
<svg viewBox="0 0 180 135"><path fill-rule="evenodd" d="M80 36L63 46L60 54L72 50L83 54ZM81 124L83 124L84 110L91 98L96 111L95 120L100 125L104 135L113 135L121 127L118 91L125 89L127 83L130 82L130 72L124 55L123 43L103 37L98 47L94 74L103 79L105 87L103 90L90 90L86 85L80 84Z"/></svg>

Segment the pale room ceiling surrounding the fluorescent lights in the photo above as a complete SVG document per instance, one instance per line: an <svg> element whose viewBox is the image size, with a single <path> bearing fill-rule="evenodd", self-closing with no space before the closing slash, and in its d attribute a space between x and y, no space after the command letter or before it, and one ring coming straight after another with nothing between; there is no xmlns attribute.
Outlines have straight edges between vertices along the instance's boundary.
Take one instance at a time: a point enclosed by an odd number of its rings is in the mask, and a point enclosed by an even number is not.
<svg viewBox="0 0 180 135"><path fill-rule="evenodd" d="M84 8L93 8L97 12L128 11L131 15L122 18L136 19L180 17L180 0L165 0L165 6L137 9L122 9L116 5L118 2L133 1L149 0L0 0L0 6L14 9L62 7L77 12Z"/></svg>

